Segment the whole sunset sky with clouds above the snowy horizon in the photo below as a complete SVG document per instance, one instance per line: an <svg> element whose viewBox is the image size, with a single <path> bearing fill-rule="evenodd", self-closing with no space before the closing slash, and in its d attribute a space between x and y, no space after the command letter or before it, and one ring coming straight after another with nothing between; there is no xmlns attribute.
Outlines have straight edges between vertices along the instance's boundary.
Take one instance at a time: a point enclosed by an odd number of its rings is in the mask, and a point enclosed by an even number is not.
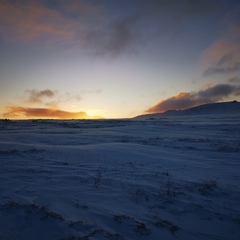
<svg viewBox="0 0 240 240"><path fill-rule="evenodd" d="M0 118L240 101L238 0L0 0Z"/></svg>

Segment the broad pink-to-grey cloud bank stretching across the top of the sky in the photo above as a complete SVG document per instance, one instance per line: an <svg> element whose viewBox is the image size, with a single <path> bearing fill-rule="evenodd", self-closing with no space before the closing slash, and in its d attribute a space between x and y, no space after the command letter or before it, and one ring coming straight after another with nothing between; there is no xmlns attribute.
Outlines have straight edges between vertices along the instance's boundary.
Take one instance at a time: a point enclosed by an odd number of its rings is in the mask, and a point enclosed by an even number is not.
<svg viewBox="0 0 240 240"><path fill-rule="evenodd" d="M166 26L173 31L180 22L218 7L208 0L2 0L0 36L35 47L61 45L118 56L136 51Z"/></svg>

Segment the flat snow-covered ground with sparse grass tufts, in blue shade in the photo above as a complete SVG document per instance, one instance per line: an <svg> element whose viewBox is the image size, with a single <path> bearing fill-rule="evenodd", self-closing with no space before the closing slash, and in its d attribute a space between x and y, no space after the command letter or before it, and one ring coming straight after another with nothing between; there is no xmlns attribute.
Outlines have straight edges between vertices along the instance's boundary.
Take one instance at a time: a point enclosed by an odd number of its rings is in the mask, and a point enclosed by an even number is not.
<svg viewBox="0 0 240 240"><path fill-rule="evenodd" d="M1 121L0 239L240 239L240 115Z"/></svg>

